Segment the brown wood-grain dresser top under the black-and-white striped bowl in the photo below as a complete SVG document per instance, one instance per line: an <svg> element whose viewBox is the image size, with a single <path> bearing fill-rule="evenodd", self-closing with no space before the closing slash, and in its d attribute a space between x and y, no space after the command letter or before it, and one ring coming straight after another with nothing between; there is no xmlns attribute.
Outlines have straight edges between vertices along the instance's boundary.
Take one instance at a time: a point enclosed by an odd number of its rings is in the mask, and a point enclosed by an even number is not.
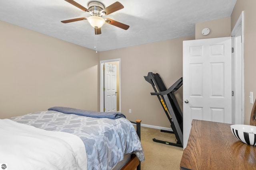
<svg viewBox="0 0 256 170"><path fill-rule="evenodd" d="M231 124L193 120L181 170L256 170L256 146L244 144Z"/></svg>

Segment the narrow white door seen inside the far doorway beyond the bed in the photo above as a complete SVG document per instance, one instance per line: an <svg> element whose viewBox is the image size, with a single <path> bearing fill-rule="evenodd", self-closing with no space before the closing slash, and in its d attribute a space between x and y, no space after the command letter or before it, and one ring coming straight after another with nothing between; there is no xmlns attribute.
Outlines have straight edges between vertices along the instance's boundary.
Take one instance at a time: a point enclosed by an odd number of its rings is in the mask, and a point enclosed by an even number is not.
<svg viewBox="0 0 256 170"><path fill-rule="evenodd" d="M104 108L116 112L116 65L104 64Z"/></svg>

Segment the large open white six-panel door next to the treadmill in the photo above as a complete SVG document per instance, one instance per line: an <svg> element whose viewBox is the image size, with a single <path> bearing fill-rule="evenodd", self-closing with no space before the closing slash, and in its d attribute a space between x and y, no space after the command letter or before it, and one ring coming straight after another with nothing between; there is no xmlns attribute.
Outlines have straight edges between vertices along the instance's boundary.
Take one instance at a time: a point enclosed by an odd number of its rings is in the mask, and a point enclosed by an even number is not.
<svg viewBox="0 0 256 170"><path fill-rule="evenodd" d="M231 37L183 41L183 148L192 119L232 123Z"/></svg>

